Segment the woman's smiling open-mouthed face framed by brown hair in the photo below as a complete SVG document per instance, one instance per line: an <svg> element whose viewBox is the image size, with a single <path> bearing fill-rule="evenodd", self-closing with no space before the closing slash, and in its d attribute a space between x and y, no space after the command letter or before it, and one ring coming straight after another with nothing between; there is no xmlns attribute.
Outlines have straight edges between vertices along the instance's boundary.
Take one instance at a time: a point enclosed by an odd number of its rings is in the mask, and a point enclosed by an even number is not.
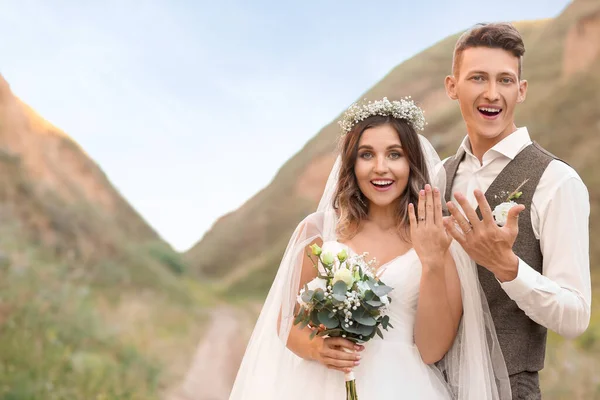
<svg viewBox="0 0 600 400"><path fill-rule="evenodd" d="M354 173L369 202L385 207L398 199L408 184L410 166L398 133L385 124L366 129L359 142Z"/></svg>

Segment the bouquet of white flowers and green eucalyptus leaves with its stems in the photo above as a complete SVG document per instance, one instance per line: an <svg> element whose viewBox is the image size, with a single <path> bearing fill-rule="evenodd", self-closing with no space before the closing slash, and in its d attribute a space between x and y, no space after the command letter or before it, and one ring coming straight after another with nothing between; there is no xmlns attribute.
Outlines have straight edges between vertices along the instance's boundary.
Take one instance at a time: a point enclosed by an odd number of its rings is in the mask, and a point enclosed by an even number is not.
<svg viewBox="0 0 600 400"><path fill-rule="evenodd" d="M308 257L317 269L317 277L298 294L300 308L294 325L309 326L311 339L343 337L364 343L375 335L383 338L381 328L393 328L386 315L391 302L387 295L392 288L379 280L372 266L375 260L366 262L367 253L348 256L343 249L334 255L316 244L310 248L312 254ZM345 378L346 399L358 399L354 374L347 373Z"/></svg>

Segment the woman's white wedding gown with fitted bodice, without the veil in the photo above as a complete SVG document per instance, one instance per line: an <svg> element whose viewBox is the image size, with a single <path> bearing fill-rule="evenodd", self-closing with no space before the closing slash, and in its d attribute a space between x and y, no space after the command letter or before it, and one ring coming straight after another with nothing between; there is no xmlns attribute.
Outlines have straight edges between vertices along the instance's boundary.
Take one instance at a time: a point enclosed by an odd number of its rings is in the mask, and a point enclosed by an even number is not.
<svg viewBox="0 0 600 400"><path fill-rule="evenodd" d="M324 252L329 244L323 244ZM339 244L336 245L339 248ZM350 254L353 253L352 249L344 247ZM416 252L411 249L379 268L385 269L381 280L394 288L389 294L392 301L387 311L394 328L383 331L384 339L375 336L364 344L360 365L354 368L359 399L450 399L439 370L423 362L414 342L413 331L421 279L421 262ZM321 364L306 360L298 361L295 373L307 382L307 386L313 387L313 383L319 382L315 385L318 387L318 397L345 399L344 373L328 370ZM307 397L301 390L299 393L288 392L285 398L313 397Z"/></svg>

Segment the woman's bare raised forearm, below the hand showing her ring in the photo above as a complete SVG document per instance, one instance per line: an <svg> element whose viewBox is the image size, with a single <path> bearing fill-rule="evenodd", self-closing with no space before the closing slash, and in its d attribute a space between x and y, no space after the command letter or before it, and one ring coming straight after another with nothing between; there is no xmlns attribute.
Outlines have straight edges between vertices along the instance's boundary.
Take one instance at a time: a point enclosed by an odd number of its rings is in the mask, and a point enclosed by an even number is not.
<svg viewBox="0 0 600 400"><path fill-rule="evenodd" d="M433 364L452 346L462 315L460 280L450 252L444 265L423 266L417 315L415 344L421 358Z"/></svg>

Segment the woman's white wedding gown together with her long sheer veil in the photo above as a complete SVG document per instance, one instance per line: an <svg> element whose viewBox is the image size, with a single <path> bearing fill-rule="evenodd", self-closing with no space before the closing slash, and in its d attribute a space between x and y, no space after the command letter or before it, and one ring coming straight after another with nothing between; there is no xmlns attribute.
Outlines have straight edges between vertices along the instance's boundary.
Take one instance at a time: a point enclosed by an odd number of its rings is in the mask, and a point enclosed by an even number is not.
<svg viewBox="0 0 600 400"><path fill-rule="evenodd" d="M429 154L428 160L439 162L431 144L423 137L421 140L424 151ZM339 167L338 159L318 211L298 225L288 243L248 343L230 400L346 398L344 373L304 360L286 347L289 333L296 329L293 326L294 308L306 246L317 239L323 241L324 251L328 244L341 245L337 242L337 216L331 205ZM440 173L443 170L434 165L428 167L429 171L434 171L430 182L442 189L443 182L434 175L443 179L445 175ZM389 315L394 328L384 330L383 339L375 336L365 343L360 365L354 369L360 400L511 399L508 373L481 292L476 266L456 242L450 251L461 283L463 316L454 344L435 366L428 366L421 360L414 344L421 279L417 254L409 250L379 266L385 268L382 281L393 288L389 294L392 299Z"/></svg>

